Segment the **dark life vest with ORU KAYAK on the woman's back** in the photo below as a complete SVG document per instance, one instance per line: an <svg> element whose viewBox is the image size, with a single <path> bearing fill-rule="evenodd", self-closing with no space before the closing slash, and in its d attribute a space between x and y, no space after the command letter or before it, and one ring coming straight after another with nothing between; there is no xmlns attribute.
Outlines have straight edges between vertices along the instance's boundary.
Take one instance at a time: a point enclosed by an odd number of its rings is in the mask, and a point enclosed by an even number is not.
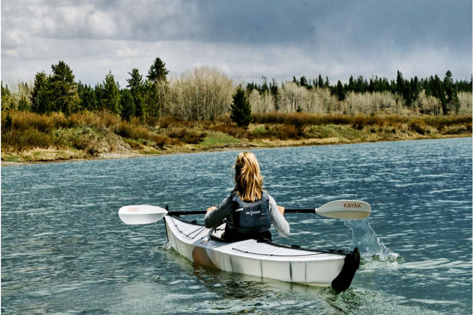
<svg viewBox="0 0 473 315"><path fill-rule="evenodd" d="M263 191L261 199L245 202L238 194L232 198L233 228L240 234L256 234L271 227L269 216L269 195Z"/></svg>

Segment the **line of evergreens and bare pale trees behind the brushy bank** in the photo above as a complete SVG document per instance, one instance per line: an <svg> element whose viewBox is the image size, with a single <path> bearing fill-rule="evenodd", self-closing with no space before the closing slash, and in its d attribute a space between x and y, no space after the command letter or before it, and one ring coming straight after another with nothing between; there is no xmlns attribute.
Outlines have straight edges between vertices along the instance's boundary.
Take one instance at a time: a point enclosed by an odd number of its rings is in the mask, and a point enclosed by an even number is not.
<svg viewBox="0 0 473 315"><path fill-rule="evenodd" d="M247 83L238 90L233 80L210 67L196 67L180 76L169 75L166 64L156 58L145 77L138 69L128 72L126 87L121 87L111 71L95 86L76 82L72 69L64 62L51 66L52 72L37 72L34 82L18 83L10 91L2 82L2 110L16 109L39 114L106 110L124 120L138 117L154 124L161 115L183 120L215 120L228 113L232 97L244 91L253 112L341 113L348 115L378 112L448 115L471 112L472 80L453 81L447 71L439 76L405 79L400 71L396 80L350 76L347 83L331 84L322 75L312 80L305 76L281 85L262 77L262 83ZM246 104L246 103L245 103ZM247 105L245 105L247 106Z"/></svg>

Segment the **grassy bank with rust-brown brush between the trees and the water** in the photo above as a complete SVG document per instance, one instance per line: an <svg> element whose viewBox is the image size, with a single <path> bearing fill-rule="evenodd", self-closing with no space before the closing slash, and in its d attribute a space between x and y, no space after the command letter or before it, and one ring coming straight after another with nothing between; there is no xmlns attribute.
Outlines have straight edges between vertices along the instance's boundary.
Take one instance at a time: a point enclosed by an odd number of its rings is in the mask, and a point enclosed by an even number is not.
<svg viewBox="0 0 473 315"><path fill-rule="evenodd" d="M112 158L248 147L343 144L471 137L471 115L347 116L304 113L253 115L248 129L229 115L216 121L162 117L154 126L108 112L38 115L2 112L2 161Z"/></svg>

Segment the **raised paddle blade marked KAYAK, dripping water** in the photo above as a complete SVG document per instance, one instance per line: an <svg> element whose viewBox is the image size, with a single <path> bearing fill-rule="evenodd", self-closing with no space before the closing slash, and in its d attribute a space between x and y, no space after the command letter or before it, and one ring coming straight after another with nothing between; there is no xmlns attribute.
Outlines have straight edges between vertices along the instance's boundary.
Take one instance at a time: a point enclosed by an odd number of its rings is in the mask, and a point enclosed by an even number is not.
<svg viewBox="0 0 473 315"><path fill-rule="evenodd" d="M316 213L338 219L361 220L370 216L371 207L360 200L336 200L321 206Z"/></svg>

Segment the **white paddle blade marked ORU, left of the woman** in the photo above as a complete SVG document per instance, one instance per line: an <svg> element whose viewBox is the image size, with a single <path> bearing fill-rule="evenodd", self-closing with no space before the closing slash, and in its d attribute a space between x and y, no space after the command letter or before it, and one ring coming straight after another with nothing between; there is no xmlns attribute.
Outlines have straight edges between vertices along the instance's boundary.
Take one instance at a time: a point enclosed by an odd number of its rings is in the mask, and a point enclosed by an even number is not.
<svg viewBox="0 0 473 315"><path fill-rule="evenodd" d="M119 210L120 219L127 224L149 224L168 214L166 209L148 205L124 206Z"/></svg>

